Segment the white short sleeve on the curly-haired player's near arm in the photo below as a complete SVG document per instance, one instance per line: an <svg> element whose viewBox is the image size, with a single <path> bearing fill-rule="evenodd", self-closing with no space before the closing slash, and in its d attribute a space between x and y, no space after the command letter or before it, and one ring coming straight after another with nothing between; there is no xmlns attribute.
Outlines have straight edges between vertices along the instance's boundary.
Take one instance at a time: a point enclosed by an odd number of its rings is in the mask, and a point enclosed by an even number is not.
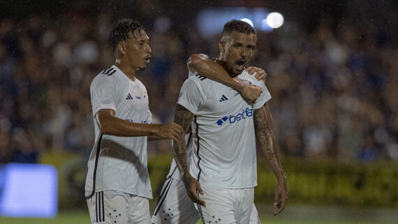
<svg viewBox="0 0 398 224"><path fill-rule="evenodd" d="M115 89L112 87L108 76L99 75L94 78L90 86L91 105L93 115L102 109L111 109L116 111L115 107Z"/></svg>

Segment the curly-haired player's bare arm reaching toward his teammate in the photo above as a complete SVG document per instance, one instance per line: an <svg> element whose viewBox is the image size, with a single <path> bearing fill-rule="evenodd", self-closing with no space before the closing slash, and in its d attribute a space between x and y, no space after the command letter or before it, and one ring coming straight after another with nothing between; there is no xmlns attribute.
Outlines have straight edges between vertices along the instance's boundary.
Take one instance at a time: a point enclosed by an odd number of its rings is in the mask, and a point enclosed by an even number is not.
<svg viewBox="0 0 398 224"><path fill-rule="evenodd" d="M169 124L138 124L115 117L115 111L103 109L96 113L96 122L101 133L122 137L138 137L154 135L158 139L171 138L177 140L184 135L182 127L175 123ZM184 138L184 137L182 137Z"/></svg>

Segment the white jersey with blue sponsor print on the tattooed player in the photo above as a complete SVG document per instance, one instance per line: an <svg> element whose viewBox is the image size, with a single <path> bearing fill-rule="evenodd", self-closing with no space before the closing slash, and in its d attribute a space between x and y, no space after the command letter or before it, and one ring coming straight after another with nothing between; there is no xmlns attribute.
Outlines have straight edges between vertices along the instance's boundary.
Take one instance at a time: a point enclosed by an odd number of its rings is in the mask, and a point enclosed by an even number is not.
<svg viewBox="0 0 398 224"><path fill-rule="evenodd" d="M244 71L239 79L261 87L256 104L239 92L198 74L182 85L177 103L195 114L190 172L202 186L251 188L257 185L253 110L271 96L263 82Z"/></svg>

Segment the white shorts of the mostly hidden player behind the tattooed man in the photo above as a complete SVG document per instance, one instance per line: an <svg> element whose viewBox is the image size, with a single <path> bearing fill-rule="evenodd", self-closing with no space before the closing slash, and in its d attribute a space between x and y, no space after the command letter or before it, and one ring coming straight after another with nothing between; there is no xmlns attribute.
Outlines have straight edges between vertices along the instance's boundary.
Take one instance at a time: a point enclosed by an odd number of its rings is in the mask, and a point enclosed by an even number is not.
<svg viewBox="0 0 398 224"><path fill-rule="evenodd" d="M168 178L163 185L161 195L152 216L154 224L196 224L200 219L191 198L186 194L181 179ZM260 218L252 205L250 224L260 224Z"/></svg>

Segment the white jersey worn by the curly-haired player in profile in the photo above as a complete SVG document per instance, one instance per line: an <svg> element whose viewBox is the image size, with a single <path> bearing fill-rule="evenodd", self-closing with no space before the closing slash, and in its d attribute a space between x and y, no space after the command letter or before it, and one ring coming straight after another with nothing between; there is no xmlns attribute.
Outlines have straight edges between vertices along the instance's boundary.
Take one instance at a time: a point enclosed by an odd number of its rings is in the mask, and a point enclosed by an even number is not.
<svg viewBox="0 0 398 224"><path fill-rule="evenodd" d="M117 66L99 73L91 82L91 105L96 143L91 151L85 195L113 190L152 199L147 169L147 137L103 135L95 119L101 109L115 110L115 117L134 123L152 123L147 89L130 80Z"/></svg>

